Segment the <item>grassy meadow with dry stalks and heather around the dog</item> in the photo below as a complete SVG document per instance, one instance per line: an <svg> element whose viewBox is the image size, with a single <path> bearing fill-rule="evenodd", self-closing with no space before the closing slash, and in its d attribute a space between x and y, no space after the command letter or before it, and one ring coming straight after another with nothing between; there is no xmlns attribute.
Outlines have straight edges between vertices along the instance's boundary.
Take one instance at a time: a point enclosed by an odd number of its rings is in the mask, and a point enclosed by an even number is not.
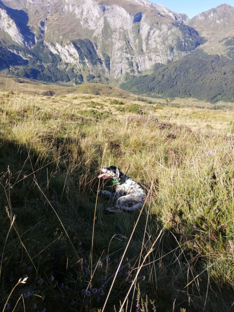
<svg viewBox="0 0 234 312"><path fill-rule="evenodd" d="M232 311L233 103L22 85L0 91L0 311ZM110 164L141 211L103 213Z"/></svg>

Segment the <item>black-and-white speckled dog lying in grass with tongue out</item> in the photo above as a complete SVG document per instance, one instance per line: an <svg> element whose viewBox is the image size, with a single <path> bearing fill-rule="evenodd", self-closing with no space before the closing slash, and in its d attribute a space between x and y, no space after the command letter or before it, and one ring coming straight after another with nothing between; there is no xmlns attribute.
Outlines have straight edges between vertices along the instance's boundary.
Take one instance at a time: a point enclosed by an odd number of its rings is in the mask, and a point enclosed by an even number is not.
<svg viewBox="0 0 234 312"><path fill-rule="evenodd" d="M110 199L117 200L114 207L105 208L106 213L134 211L142 208L146 194L139 184L122 173L119 167L116 166L103 166L101 172L102 174L98 178L111 178L113 185L107 187L112 189L112 192L99 191L99 193L110 197Z"/></svg>

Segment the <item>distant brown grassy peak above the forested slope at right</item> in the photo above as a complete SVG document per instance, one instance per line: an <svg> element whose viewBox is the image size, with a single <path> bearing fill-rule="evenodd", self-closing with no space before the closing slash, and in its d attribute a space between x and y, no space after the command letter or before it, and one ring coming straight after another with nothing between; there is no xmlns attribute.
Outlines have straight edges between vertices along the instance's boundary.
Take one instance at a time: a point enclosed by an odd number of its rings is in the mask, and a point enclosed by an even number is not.
<svg viewBox="0 0 234 312"><path fill-rule="evenodd" d="M222 4L198 14L187 25L207 39L202 46L204 51L234 58L234 7Z"/></svg>

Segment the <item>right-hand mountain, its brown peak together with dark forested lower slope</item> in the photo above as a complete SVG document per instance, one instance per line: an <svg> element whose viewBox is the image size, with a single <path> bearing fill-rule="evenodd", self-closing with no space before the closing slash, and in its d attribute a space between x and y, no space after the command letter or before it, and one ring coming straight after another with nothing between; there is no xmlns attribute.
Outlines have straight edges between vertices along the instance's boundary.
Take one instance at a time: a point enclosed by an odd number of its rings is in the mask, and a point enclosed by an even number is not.
<svg viewBox="0 0 234 312"><path fill-rule="evenodd" d="M121 88L137 94L234 102L234 8L222 4L186 23L206 42L179 60L156 64L149 75L127 76Z"/></svg>

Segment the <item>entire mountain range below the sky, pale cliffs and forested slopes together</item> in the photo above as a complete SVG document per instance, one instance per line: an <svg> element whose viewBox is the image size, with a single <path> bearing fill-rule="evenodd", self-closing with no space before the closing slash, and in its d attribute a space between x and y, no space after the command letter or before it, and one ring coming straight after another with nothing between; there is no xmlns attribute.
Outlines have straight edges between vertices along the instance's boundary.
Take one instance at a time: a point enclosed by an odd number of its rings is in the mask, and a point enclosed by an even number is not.
<svg viewBox="0 0 234 312"><path fill-rule="evenodd" d="M0 73L233 101L233 29L227 4L189 20L147 0L0 0Z"/></svg>

